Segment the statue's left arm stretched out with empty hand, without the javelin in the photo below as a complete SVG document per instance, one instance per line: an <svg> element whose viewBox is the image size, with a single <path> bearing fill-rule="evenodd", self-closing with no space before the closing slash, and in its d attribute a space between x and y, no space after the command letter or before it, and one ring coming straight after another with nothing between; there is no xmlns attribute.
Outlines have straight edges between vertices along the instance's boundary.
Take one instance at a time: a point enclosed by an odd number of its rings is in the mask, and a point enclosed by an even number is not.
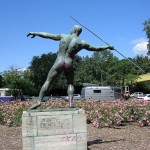
<svg viewBox="0 0 150 150"><path fill-rule="evenodd" d="M35 36L39 36L42 38L52 39L52 40L60 40L61 35L60 34L50 34L46 32L29 32L27 34L27 37L31 36L31 38L34 38Z"/></svg>

